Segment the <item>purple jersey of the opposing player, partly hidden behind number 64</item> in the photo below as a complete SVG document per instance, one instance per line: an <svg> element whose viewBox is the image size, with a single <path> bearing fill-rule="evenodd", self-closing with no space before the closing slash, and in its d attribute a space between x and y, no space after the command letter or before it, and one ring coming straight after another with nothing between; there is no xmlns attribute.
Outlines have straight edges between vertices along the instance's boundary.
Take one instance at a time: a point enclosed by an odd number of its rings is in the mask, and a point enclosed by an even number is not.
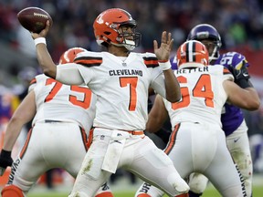
<svg viewBox="0 0 263 197"><path fill-rule="evenodd" d="M237 52L228 52L220 55L215 64L220 64L227 68L236 67L237 69L239 69L242 64L246 64L247 67L249 66L246 57ZM233 105L225 104L223 111L221 122L227 136L237 130L244 116L242 110Z"/></svg>

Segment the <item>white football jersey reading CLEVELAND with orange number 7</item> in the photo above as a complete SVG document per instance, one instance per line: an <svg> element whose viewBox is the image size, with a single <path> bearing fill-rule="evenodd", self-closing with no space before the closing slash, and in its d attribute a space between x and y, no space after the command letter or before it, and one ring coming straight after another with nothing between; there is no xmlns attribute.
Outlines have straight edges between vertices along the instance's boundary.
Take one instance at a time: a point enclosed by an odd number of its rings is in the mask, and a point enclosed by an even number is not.
<svg viewBox="0 0 263 197"><path fill-rule="evenodd" d="M79 53L74 62L78 64L85 84L97 95L94 127L145 129L148 88L153 87L165 97L163 70L154 54L131 53L123 61L108 52L88 51ZM59 78L59 72L68 67L58 66L57 79L63 83L67 78ZM72 78L79 77L74 75Z"/></svg>

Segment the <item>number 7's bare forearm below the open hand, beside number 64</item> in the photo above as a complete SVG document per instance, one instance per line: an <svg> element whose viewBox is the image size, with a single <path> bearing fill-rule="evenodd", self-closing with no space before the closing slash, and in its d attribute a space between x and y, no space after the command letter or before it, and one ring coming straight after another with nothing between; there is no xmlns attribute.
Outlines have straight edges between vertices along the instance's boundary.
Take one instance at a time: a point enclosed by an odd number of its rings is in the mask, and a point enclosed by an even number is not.
<svg viewBox="0 0 263 197"><path fill-rule="evenodd" d="M165 78L166 99L170 102L179 101L181 99L181 90L173 70L163 70L163 74Z"/></svg>

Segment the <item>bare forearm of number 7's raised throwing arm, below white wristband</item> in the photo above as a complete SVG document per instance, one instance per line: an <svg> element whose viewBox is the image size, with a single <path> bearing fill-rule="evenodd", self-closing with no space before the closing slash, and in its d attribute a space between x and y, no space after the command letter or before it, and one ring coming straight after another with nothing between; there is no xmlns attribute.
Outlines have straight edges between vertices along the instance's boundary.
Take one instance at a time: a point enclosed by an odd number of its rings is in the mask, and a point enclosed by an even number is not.
<svg viewBox="0 0 263 197"><path fill-rule="evenodd" d="M47 46L43 43L39 43L37 44L36 49L37 60L44 74L50 78L56 78L57 67L47 51Z"/></svg>

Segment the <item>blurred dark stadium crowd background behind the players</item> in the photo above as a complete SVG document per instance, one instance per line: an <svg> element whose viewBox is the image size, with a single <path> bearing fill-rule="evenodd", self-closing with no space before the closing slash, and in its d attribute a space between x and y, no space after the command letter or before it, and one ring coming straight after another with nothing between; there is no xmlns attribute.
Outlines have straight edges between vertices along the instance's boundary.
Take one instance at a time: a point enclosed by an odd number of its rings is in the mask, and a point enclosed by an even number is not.
<svg viewBox="0 0 263 197"><path fill-rule="evenodd" d="M172 32L175 51L193 26L208 23L220 33L223 51L246 52L248 62L253 62L252 80L263 96L262 0L0 0L0 133L25 97L28 82L41 72L34 42L16 18L28 6L41 7L53 18L47 47L55 62L69 47L99 51L92 24L111 7L127 10L137 21L142 33L138 52L152 52L153 39L158 40L163 30ZM263 108L244 112L255 171L263 172ZM0 148L2 142L1 137Z"/></svg>

